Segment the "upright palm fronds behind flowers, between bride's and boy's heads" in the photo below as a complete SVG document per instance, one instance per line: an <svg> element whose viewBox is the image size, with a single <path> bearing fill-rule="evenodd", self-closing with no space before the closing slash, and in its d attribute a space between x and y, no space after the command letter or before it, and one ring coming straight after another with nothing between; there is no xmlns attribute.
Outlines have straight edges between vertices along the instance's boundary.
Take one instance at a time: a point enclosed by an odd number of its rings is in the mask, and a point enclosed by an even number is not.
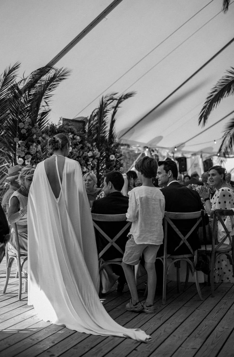
<svg viewBox="0 0 234 357"><path fill-rule="evenodd" d="M98 158L96 173L98 178L98 186L101 184L102 177L106 171L109 169L109 156L111 146L116 143L115 134L115 121L116 112L120 105L126 99L135 95L135 92L128 92L123 95L117 96L118 93L108 94L102 96L99 102L99 106L91 113L87 119L87 135L92 138L93 142L96 142L98 151L100 152L100 157ZM110 120L110 125L108 129L108 122ZM115 152L116 152L115 148ZM118 156L121 156L118 155ZM120 157L116 158L120 160Z"/></svg>

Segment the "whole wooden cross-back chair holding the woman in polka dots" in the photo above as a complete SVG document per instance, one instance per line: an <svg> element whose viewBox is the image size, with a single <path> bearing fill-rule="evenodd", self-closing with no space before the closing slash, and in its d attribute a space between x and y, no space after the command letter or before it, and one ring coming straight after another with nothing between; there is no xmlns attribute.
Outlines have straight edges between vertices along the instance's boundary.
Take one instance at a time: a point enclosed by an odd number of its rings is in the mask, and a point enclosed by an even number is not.
<svg viewBox="0 0 234 357"><path fill-rule="evenodd" d="M213 229L212 229L212 244L206 245L206 256L210 263L210 285L211 285L211 296L214 297L214 270L215 264L218 261L220 255L226 255L230 264L233 268L234 275L234 236L230 236L230 232L225 226L224 219L227 216L234 216L233 210L215 210L213 218ZM223 218L225 217L225 218ZM218 242L218 221L221 223L225 235L220 242ZM233 227L232 227L233 228ZM228 238L229 244L224 244L225 240ZM205 254L205 245L202 245L198 250L199 253Z"/></svg>

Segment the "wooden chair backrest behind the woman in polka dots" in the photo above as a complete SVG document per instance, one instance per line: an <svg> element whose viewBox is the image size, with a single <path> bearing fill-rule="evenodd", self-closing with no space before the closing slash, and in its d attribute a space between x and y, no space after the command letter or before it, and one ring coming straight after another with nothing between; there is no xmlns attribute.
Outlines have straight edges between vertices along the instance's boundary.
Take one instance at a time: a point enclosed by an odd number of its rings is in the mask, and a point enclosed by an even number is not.
<svg viewBox="0 0 234 357"><path fill-rule="evenodd" d="M223 217L227 217L227 216L234 216L234 211L233 210L215 210L214 211L214 220L213 220L213 231L212 231L212 237L214 237L214 239L212 240L212 244L215 245L217 244L217 246L215 247L215 250L218 250L219 247L225 242L225 240L228 238L229 239L229 245L232 247L233 246L233 238L232 236L230 236L230 233L232 231L232 227L230 227L230 231L228 230L228 228L225 225L224 220L226 221L226 218L224 219ZM218 242L217 240L217 235L218 235L218 221L221 223L221 225L223 226L223 230L224 230L224 237L222 238L222 240L220 242Z"/></svg>

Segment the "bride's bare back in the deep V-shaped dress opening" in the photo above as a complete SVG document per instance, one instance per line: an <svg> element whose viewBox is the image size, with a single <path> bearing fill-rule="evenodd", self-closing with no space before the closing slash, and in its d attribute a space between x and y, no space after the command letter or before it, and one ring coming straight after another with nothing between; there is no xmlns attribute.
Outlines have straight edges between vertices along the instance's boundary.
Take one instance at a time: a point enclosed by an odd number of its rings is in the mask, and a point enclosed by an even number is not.
<svg viewBox="0 0 234 357"><path fill-rule="evenodd" d="M45 164L45 173L50 183L51 190L53 191L55 198L59 198L61 189L60 189L59 178L56 169L55 157L56 156L48 157L48 159L45 160L44 164ZM59 176L62 183L65 157L58 155L57 158L58 158Z"/></svg>

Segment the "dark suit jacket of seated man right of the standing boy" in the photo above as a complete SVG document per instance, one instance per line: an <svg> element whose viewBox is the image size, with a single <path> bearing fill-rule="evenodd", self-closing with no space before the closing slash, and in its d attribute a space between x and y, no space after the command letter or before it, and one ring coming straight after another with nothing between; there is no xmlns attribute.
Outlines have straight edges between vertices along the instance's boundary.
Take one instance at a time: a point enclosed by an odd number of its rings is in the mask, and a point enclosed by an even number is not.
<svg viewBox="0 0 234 357"><path fill-rule="evenodd" d="M167 212L196 212L204 210L199 193L191 190L188 187L180 185L179 182L172 182L169 186L161 189L165 197L165 211ZM195 220L172 220L179 231L185 236L196 223ZM205 213L205 222L209 222L209 218ZM173 228L168 224L168 253L174 252L175 248L181 242L180 237L176 234ZM196 250L200 248L198 231L194 230L188 238L188 243ZM163 245L160 246L159 255L163 255ZM175 254L190 253L188 247L183 243Z"/></svg>

